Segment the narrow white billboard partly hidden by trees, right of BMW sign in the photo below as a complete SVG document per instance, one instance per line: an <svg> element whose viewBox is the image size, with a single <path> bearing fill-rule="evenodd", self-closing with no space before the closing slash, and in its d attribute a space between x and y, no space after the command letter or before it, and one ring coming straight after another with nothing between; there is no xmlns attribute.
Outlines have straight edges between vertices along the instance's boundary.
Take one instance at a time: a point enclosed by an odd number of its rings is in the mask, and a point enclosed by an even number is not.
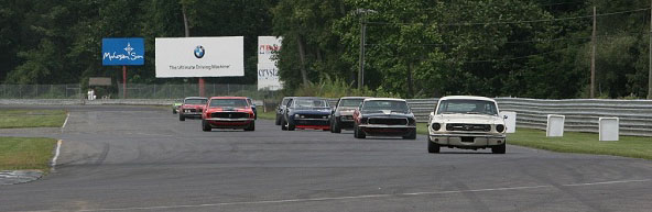
<svg viewBox="0 0 652 212"><path fill-rule="evenodd" d="M283 88L279 79L279 68L274 55L281 49L282 37L258 37L258 89L280 90Z"/></svg>

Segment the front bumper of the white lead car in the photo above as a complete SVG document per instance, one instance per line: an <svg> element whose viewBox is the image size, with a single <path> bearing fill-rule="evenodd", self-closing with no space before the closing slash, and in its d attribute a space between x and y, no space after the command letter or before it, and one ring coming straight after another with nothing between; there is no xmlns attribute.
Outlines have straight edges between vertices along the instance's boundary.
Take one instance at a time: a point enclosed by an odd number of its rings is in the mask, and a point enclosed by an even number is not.
<svg viewBox="0 0 652 212"><path fill-rule="evenodd" d="M444 146L486 147L504 144L507 136L487 134L431 134L430 140Z"/></svg>

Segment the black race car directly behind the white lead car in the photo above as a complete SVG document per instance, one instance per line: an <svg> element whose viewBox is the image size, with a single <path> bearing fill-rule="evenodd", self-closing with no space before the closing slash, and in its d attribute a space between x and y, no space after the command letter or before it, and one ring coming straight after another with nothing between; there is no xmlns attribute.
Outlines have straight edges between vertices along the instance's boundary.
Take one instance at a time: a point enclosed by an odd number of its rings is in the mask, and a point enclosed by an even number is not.
<svg viewBox="0 0 652 212"><path fill-rule="evenodd" d="M370 98L354 112L354 136L416 138L416 119L403 99Z"/></svg>

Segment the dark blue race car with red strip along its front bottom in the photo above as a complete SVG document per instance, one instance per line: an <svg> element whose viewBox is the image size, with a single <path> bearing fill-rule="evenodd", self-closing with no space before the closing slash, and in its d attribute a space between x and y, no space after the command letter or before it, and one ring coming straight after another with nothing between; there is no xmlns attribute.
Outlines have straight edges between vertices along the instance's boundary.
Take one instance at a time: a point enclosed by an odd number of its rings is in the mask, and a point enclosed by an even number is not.
<svg viewBox="0 0 652 212"><path fill-rule="evenodd" d="M332 109L328 100L316 97L297 97L291 99L281 120L281 130L315 129L329 131Z"/></svg>

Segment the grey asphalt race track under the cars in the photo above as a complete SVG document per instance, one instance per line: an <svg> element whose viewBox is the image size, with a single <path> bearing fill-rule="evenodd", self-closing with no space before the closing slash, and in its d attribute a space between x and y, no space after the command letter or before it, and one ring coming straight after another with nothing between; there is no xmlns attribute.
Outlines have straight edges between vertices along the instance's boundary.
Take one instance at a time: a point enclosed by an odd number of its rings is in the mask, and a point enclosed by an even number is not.
<svg viewBox="0 0 652 212"><path fill-rule="evenodd" d="M356 140L268 120L202 132L161 108L65 108L63 133L0 131L63 140L54 172L0 187L0 211L652 211L649 160L518 146L434 155L422 135Z"/></svg>

